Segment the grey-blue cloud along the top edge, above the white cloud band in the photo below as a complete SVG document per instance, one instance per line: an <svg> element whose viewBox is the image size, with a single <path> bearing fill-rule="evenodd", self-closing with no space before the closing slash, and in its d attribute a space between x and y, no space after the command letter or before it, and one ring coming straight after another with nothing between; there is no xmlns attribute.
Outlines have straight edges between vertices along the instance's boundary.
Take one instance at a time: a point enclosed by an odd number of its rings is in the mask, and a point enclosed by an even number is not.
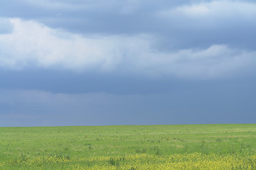
<svg viewBox="0 0 256 170"><path fill-rule="evenodd" d="M214 4L212 15L191 17L177 8ZM2 2L1 2L2 3ZM225 44L255 50L254 1L11 1L3 2L1 16L33 19L70 32L103 35L148 33L158 50L206 48ZM223 4L223 5L222 5ZM228 4L229 8L221 11ZM238 4L238 6L232 5ZM239 7L240 4L240 7ZM18 7L20 6L20 8ZM32 8L33 7L33 8ZM17 8L17 10L10 10ZM29 10L26 10L28 9ZM218 11L220 8L220 11ZM242 10L241 10L242 9ZM159 13L173 11L169 16ZM249 14L248 14L249 11ZM250 12L252 12L250 14ZM248 18L249 17L249 18Z"/></svg>

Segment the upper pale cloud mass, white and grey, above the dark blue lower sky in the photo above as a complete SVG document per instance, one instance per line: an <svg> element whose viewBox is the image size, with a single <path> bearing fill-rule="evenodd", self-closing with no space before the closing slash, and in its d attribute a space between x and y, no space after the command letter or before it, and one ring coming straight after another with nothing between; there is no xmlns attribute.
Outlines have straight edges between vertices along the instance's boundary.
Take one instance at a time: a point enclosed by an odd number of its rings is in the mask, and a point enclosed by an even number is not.
<svg viewBox="0 0 256 170"><path fill-rule="evenodd" d="M255 2L164 2L20 1L36 14L1 11L0 67L186 78L255 72Z"/></svg>

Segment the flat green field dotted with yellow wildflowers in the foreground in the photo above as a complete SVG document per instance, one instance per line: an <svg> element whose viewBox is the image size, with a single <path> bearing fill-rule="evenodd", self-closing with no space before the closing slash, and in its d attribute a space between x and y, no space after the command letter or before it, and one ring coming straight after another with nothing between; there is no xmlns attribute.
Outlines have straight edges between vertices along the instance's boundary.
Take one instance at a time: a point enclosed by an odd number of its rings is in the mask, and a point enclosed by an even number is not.
<svg viewBox="0 0 256 170"><path fill-rule="evenodd" d="M256 124L0 128L0 169L256 169Z"/></svg>

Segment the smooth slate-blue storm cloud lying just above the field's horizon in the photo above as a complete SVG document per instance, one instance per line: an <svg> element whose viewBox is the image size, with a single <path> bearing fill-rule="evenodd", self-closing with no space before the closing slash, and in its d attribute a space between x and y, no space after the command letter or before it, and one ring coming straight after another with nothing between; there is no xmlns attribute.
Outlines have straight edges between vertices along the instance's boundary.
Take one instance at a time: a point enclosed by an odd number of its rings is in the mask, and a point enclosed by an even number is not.
<svg viewBox="0 0 256 170"><path fill-rule="evenodd" d="M235 84L233 84L235 83ZM254 123L252 84L212 82L160 94L1 90L1 126Z"/></svg>

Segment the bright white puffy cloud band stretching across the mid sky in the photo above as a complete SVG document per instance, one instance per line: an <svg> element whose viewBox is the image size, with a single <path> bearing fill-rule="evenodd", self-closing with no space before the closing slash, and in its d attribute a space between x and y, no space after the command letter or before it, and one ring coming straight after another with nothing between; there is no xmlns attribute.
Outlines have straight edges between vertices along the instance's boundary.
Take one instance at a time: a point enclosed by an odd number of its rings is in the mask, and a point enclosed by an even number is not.
<svg viewBox="0 0 256 170"><path fill-rule="evenodd" d="M228 45L203 49L153 50L151 35L85 37L35 21L11 19L12 33L0 35L3 68L70 69L149 76L221 77L253 69L255 51Z"/></svg>

